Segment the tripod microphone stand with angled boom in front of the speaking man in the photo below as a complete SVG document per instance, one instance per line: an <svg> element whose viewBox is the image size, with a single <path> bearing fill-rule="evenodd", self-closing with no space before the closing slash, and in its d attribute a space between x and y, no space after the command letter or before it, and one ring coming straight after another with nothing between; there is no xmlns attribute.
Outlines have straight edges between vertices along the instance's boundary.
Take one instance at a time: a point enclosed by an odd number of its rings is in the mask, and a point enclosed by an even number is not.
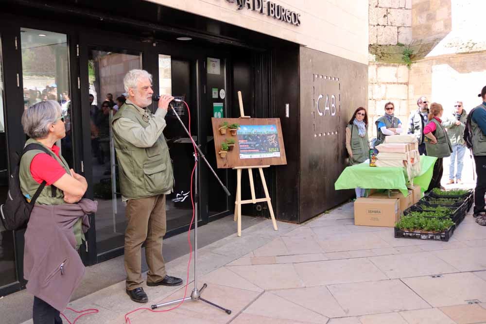
<svg viewBox="0 0 486 324"><path fill-rule="evenodd" d="M184 128L184 130L186 131L187 135L189 136L189 138L191 139L191 142L192 142L192 145L194 145L194 147L196 148L197 152L199 153L199 156L201 156L204 160L204 162L206 162L206 165L208 166L209 170L212 171L214 177L218 180L219 184L221 185L221 187L223 188L223 190L225 190L226 192L226 195L230 196L231 194L229 193L229 190L228 188L226 188L226 186L223 184L223 182L221 182L220 178L218 177L218 175L216 174L216 172L214 171L214 169L211 167L211 165L209 164L208 160L206 159L206 157L204 156L204 154L201 152L201 149L199 148L199 146L194 142L194 139L192 138L192 136L190 135L188 129L186 128L186 126L184 125L184 122L180 119L179 115L177 114L177 112L175 111L174 107L171 105L171 108L172 110L174 111L174 114L175 116L177 117L177 119L179 120L179 123L182 125L182 128ZM178 304L182 301L186 301L186 300L193 300L193 301L198 301L198 300L202 300L203 302L206 302L208 303L209 305L212 305L214 307L217 307L219 309L222 309L226 312L226 314L231 314L231 310L229 309L226 309L224 307L221 307L219 305L216 305L214 303L211 303L210 301L204 299L201 297L201 294L203 292L203 290L206 289L206 287L208 287L207 284L204 284L201 289L199 290L197 288L197 221L198 221L198 200L199 200L199 197L198 197L198 190L197 190L197 186L198 186L198 183L197 183L197 167L198 167L198 154L196 153L193 153L192 154L194 156L194 163L196 165L196 168L194 170L194 183L195 183L195 186L194 186L194 289L192 290L191 292L191 296L190 297L185 297L185 298L181 298L181 299L176 299L176 300L173 300L171 302L167 302L167 303L162 303L162 304L157 304L157 305L152 305L152 309L156 309L156 308L159 308L159 307L166 307L166 306L170 306L170 305L174 305L174 304ZM187 284L187 283L186 283Z"/></svg>

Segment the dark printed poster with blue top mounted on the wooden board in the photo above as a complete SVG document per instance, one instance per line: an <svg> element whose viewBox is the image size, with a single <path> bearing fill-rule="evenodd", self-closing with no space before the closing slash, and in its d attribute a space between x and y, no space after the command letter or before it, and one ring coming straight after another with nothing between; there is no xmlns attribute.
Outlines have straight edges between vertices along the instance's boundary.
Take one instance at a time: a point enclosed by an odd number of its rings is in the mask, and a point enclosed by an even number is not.
<svg viewBox="0 0 486 324"><path fill-rule="evenodd" d="M277 125L242 125L238 129L240 159L279 157Z"/></svg>

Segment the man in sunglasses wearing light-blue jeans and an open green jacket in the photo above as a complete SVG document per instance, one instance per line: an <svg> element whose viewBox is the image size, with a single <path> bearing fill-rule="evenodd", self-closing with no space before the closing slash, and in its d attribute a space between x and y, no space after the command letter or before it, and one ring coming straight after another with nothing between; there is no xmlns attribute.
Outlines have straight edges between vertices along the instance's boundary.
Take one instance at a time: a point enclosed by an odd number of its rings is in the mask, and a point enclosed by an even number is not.
<svg viewBox="0 0 486 324"><path fill-rule="evenodd" d="M447 116L442 121L442 126L447 130L447 135L451 140L452 153L451 164L449 165L449 182L448 185L454 183L454 165L457 156L457 172L455 174L456 183L461 183L462 167L464 165L464 153L466 153L466 143L464 142L464 129L466 128L466 121L468 120L468 113L464 110L462 101L454 103L454 113Z"/></svg>

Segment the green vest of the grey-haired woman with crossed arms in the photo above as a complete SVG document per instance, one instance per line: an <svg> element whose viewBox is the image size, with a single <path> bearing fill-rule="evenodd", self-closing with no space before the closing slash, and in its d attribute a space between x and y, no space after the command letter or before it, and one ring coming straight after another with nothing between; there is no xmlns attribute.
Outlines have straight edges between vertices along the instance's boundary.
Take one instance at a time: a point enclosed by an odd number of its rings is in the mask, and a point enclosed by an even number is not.
<svg viewBox="0 0 486 324"><path fill-rule="evenodd" d="M61 154L59 154L59 157L57 157L57 155L54 152L52 152L50 148L48 148L47 146L43 145L42 143L32 138L29 138L25 143L25 145L27 146L31 143L36 143L44 146L47 149L47 151L49 151L49 154L57 162L59 162L59 164L64 168L64 170L66 170L66 173L71 174L71 172L69 171L68 162L66 162L66 160ZM39 183L34 180L30 172L30 165L32 163L32 159L34 158L35 155L39 153L45 153L45 152L40 150L30 150L27 151L27 153L23 154L22 158L20 159L20 167L18 169L20 190L28 200L30 200L30 197L34 196L35 191L37 191L37 188L39 188ZM54 185L44 187L39 197L35 201L35 205L62 205L62 204L65 204L64 192L61 189L56 188ZM82 243L82 240L86 240L85 234L83 233L82 230L81 219L78 219L74 223L72 230L74 232L74 236L76 237L76 249L78 249Z"/></svg>

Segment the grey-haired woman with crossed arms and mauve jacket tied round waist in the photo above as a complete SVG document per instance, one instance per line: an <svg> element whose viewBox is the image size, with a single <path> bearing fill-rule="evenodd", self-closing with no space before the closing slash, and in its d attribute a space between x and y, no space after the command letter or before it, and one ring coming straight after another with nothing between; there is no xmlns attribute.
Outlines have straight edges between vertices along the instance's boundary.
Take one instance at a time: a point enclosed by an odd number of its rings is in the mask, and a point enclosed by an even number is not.
<svg viewBox="0 0 486 324"><path fill-rule="evenodd" d="M54 144L66 136L59 103L48 100L29 107L22 115L22 126L30 137L26 146L37 144L45 149L26 151L19 166L20 189L27 201L45 183L25 232L26 288L35 296L34 324L62 323L59 314L84 274L76 250L89 228L87 214L96 211L97 205L81 199L86 179L69 169Z"/></svg>

